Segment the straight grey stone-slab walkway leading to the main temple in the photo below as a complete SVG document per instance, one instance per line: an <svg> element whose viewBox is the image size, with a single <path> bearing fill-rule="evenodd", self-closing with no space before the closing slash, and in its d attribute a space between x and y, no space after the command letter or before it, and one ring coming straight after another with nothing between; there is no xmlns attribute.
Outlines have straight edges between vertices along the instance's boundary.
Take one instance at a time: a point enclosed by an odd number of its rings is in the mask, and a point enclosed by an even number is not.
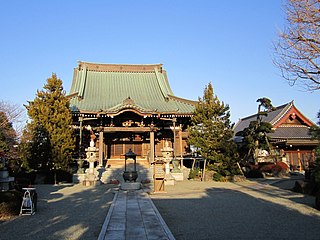
<svg viewBox="0 0 320 240"><path fill-rule="evenodd" d="M116 192L98 240L172 239L172 233L143 190Z"/></svg>

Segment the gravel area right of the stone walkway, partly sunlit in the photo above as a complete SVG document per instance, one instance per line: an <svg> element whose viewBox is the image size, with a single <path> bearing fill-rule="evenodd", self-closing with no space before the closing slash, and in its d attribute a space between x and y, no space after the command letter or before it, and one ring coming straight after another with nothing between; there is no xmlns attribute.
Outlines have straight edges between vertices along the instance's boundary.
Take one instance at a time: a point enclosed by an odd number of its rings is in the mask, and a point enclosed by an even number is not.
<svg viewBox="0 0 320 240"><path fill-rule="evenodd" d="M184 181L151 198L177 240L320 239L314 197L270 183Z"/></svg>

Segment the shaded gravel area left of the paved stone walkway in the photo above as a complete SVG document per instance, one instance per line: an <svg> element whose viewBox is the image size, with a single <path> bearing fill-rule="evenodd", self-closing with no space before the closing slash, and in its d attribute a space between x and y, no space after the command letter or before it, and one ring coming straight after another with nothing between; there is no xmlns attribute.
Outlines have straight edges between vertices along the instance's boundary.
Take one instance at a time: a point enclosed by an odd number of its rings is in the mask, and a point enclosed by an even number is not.
<svg viewBox="0 0 320 240"><path fill-rule="evenodd" d="M108 185L36 185L38 211L0 224L1 240L97 239L113 199Z"/></svg>

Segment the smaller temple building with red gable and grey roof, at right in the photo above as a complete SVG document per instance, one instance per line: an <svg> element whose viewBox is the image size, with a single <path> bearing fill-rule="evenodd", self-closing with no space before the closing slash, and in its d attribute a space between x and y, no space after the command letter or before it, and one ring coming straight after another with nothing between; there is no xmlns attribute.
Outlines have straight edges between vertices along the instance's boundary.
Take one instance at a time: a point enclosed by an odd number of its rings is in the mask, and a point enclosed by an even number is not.
<svg viewBox="0 0 320 240"><path fill-rule="evenodd" d="M268 134L270 143L288 158L292 170L305 170L315 161L315 148L319 142L309 135L314 123L296 108L293 101L261 117L263 122L272 124L274 132ZM242 131L256 120L257 114L240 119L234 126L234 133Z"/></svg>

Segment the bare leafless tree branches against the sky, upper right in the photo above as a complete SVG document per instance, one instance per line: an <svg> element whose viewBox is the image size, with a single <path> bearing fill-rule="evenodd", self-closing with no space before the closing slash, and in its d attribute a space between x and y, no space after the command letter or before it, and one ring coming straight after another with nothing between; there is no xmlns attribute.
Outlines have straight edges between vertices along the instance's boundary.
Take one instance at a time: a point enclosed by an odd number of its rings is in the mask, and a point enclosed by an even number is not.
<svg viewBox="0 0 320 240"><path fill-rule="evenodd" d="M320 90L320 0L287 0L274 62L291 86Z"/></svg>

